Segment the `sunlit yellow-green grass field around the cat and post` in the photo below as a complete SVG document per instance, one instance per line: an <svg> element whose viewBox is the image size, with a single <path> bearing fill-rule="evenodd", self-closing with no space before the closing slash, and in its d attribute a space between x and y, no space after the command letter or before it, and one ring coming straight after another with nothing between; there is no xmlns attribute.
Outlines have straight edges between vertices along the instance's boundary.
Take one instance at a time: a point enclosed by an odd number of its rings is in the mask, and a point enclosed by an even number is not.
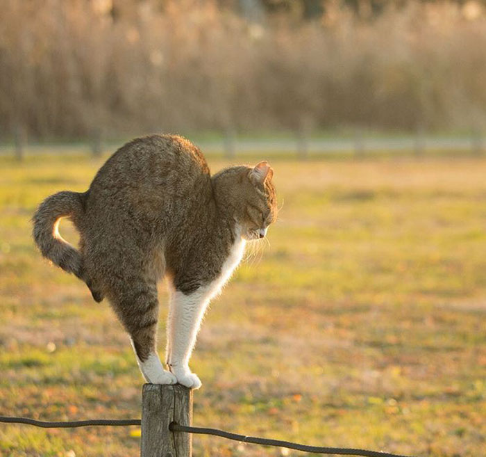
<svg viewBox="0 0 486 457"><path fill-rule="evenodd" d="M36 205L85 190L100 165L0 159L0 415L140 417L142 378L126 334L30 236ZM486 160L272 165L280 220L203 323L194 424L424 457L485 455ZM163 284L160 299L162 333ZM0 424L6 457L137 456L139 447L136 427ZM194 437L196 457L280 455L305 454Z"/></svg>

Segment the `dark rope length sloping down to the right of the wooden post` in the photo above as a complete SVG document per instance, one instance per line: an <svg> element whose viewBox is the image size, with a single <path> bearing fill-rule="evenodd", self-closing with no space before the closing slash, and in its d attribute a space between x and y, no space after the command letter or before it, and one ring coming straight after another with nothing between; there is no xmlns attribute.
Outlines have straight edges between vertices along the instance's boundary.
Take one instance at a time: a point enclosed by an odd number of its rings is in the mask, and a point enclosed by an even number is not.
<svg viewBox="0 0 486 457"><path fill-rule="evenodd" d="M215 435L221 436L228 440L250 442L253 444L262 444L264 446L278 446L287 447L288 449L296 449L297 451L312 452L314 454L339 454L342 456L364 456L364 457L410 457L401 456L399 454L389 454L388 452L367 451L365 449L351 449L346 447L319 447L308 446L307 444L299 444L290 441L271 440L267 438L258 438L255 436L238 435L237 433L230 433L217 428L203 428L191 427L186 425L179 425L172 422L169 425L169 430L173 432L197 433L199 435Z"/></svg>

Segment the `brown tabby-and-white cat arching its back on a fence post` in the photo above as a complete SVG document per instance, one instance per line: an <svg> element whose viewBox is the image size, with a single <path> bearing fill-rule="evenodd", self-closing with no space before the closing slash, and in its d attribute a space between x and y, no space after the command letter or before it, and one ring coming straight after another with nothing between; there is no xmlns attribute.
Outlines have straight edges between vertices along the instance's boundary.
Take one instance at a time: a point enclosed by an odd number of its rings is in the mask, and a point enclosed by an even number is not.
<svg viewBox="0 0 486 457"><path fill-rule="evenodd" d="M108 298L131 338L148 383L201 387L189 360L201 319L240 263L246 241L276 220L267 161L210 175L201 151L181 136L137 138L112 154L84 193L46 198L33 216L44 257ZM79 250L58 232L70 218ZM167 370L156 350L157 282L167 278Z"/></svg>

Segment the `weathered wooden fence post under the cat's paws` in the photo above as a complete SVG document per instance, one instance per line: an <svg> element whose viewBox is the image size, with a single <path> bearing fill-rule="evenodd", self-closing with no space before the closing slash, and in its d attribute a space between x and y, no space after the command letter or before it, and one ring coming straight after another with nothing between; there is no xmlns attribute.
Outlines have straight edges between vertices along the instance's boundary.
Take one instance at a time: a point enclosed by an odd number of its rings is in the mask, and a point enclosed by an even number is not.
<svg viewBox="0 0 486 457"><path fill-rule="evenodd" d="M179 384L145 384L141 457L192 457L192 435L169 431L171 422L192 424L192 390Z"/></svg>

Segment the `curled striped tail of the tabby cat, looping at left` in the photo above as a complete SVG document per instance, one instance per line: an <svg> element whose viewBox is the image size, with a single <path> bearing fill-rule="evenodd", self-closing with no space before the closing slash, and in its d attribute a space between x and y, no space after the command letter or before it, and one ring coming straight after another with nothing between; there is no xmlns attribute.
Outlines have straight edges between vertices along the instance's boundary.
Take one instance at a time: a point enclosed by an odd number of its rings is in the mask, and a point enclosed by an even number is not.
<svg viewBox="0 0 486 457"><path fill-rule="evenodd" d="M61 218L69 217L78 225L84 213L84 194L62 191L47 197L32 218L33 238L42 255L68 273L83 278L83 259L79 251L60 236Z"/></svg>

